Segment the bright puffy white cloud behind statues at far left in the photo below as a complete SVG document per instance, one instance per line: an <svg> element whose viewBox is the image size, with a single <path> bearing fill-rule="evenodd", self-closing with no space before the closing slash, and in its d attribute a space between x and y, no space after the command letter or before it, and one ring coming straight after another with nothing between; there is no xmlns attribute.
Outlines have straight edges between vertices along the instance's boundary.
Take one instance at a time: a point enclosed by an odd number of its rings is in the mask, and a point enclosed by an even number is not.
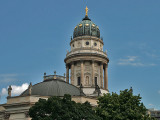
<svg viewBox="0 0 160 120"><path fill-rule="evenodd" d="M12 87L12 96L16 96L21 94L23 91L25 91L28 88L29 84L24 83L21 86L16 86L16 85L11 85ZM2 95L7 95L8 94L8 87L7 88L2 88L1 91Z"/></svg>

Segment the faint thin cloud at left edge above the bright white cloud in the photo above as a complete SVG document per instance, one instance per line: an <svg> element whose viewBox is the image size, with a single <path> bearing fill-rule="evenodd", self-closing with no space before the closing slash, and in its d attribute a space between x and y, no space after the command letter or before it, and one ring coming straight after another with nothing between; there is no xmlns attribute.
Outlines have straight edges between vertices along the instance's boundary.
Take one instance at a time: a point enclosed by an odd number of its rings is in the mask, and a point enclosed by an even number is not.
<svg viewBox="0 0 160 120"><path fill-rule="evenodd" d="M0 81L1 82L12 82L16 81L18 74L0 74Z"/></svg>

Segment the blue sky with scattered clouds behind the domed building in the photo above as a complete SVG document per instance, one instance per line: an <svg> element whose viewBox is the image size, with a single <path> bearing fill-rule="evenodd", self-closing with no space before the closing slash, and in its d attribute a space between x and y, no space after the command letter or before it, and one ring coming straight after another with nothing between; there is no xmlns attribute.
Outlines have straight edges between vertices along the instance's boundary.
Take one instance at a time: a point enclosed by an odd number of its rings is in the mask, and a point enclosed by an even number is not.
<svg viewBox="0 0 160 120"><path fill-rule="evenodd" d="M160 109L160 0L0 1L0 104L46 72L65 73L74 27L85 16L99 26L109 57L109 91L133 88Z"/></svg>

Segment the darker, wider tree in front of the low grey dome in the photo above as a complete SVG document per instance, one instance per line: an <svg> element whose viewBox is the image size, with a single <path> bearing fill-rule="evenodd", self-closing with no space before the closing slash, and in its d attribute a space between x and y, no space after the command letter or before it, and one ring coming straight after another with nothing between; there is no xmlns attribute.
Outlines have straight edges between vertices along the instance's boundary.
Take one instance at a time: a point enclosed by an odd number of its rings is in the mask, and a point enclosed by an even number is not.
<svg viewBox="0 0 160 120"><path fill-rule="evenodd" d="M76 103L70 95L39 99L29 109L29 115L32 120L101 120L89 102Z"/></svg>

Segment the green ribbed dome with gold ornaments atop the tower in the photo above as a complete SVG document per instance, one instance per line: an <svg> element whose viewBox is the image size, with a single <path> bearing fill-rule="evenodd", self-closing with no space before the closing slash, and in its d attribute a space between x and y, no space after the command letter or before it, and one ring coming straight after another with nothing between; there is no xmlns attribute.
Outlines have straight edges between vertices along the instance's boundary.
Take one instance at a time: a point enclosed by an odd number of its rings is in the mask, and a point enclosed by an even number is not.
<svg viewBox="0 0 160 120"><path fill-rule="evenodd" d="M87 15L78 25L76 25L73 32L73 38L85 35L100 38L99 27L95 23L93 23Z"/></svg>

